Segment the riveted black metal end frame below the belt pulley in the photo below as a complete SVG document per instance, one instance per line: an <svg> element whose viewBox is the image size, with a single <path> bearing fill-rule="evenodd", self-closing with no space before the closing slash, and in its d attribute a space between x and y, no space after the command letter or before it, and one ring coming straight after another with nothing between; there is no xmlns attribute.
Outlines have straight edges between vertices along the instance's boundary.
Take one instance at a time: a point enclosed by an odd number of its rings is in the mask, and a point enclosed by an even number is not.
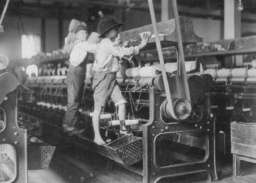
<svg viewBox="0 0 256 183"><path fill-rule="evenodd" d="M180 123L165 123L161 117L161 103L164 97L156 90L150 91L150 120L143 125L143 182L157 182L162 178L187 175L208 171L212 180L217 180L215 164L215 121L210 117L210 96L207 95L204 103L204 117L194 126ZM206 123L206 121L208 121ZM206 135L203 160L193 163L174 164L166 167L156 165L155 141L160 135L182 132L203 132ZM193 138L190 143L192 146ZM185 142L186 143L186 142ZM193 171L191 171L193 169Z"/></svg>

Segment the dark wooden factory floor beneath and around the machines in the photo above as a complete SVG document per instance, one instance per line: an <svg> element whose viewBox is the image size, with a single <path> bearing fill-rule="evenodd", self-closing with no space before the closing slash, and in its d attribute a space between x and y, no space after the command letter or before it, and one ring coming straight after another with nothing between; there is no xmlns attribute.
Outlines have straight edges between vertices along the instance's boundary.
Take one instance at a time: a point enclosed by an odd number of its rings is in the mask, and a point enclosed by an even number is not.
<svg viewBox="0 0 256 183"><path fill-rule="evenodd" d="M81 182L80 177L87 177L88 173L93 173L93 178L88 178L86 182L97 183L124 183L142 182L142 176L136 175L126 169L114 165L113 171L106 170L107 160L103 156L86 154L84 151L56 151L54 153L50 168L47 170L29 171L29 183L76 183ZM242 176L240 183L256 182L256 164L241 162ZM217 163L219 181L216 183L231 183L232 162ZM193 175L188 177L178 177L174 180L163 182L209 182L204 179L205 175Z"/></svg>

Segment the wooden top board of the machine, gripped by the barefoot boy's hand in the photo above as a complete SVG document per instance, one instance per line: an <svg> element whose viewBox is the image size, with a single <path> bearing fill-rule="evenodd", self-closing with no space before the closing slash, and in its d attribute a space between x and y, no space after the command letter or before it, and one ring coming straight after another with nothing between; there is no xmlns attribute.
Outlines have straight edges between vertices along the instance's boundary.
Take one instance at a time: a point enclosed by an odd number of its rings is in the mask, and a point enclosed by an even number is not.
<svg viewBox="0 0 256 183"><path fill-rule="evenodd" d="M182 33L182 42L185 44L202 42L202 38L198 37L194 32L193 23L191 20L186 18L185 16L180 16L180 24L181 24L181 33ZM163 34L160 36L161 46L169 47L174 43L177 43L176 33L175 33L175 21L174 19L170 19L167 21L161 21L157 23L157 28L159 30L159 34ZM144 25L143 27L130 29L128 31L121 32L121 39L132 40L129 43L129 46L136 46L140 44L139 34L142 32L151 32L153 34L152 24ZM148 44L144 47L143 50L156 49L155 38L149 38Z"/></svg>

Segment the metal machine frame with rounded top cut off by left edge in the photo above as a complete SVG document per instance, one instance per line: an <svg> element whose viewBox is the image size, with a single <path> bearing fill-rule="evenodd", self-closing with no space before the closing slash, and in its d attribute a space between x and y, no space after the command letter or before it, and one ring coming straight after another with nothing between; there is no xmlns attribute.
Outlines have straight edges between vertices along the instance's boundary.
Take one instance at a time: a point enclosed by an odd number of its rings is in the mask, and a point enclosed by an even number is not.
<svg viewBox="0 0 256 183"><path fill-rule="evenodd" d="M5 128L0 132L0 144L9 144L15 149L16 173L11 182L27 183L27 131L17 122L18 81L11 73L0 75L0 107L5 115Z"/></svg>

